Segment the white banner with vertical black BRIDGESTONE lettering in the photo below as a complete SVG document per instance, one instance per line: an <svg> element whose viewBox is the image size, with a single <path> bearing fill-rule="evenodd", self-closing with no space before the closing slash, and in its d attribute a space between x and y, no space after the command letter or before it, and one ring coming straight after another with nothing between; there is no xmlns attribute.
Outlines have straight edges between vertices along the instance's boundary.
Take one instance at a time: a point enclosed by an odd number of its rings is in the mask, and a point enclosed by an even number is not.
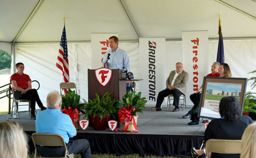
<svg viewBox="0 0 256 158"><path fill-rule="evenodd" d="M157 94L166 88L165 38L140 38L141 95L156 104Z"/></svg>

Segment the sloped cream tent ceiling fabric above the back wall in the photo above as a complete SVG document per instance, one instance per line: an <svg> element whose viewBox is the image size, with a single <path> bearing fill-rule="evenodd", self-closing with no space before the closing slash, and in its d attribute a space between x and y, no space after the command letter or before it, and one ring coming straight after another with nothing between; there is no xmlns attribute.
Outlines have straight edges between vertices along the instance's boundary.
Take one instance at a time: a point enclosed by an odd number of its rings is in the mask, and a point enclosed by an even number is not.
<svg viewBox="0 0 256 158"><path fill-rule="evenodd" d="M252 0L222 0L256 17ZM220 13L224 38L256 37L256 20L214 0L122 0L141 37L181 39L182 31L208 30L218 38ZM68 41L90 41L91 33L117 32L138 40L120 0L43 0L17 42L60 41L66 17ZM35 0L0 0L0 41L12 42L35 8Z"/></svg>

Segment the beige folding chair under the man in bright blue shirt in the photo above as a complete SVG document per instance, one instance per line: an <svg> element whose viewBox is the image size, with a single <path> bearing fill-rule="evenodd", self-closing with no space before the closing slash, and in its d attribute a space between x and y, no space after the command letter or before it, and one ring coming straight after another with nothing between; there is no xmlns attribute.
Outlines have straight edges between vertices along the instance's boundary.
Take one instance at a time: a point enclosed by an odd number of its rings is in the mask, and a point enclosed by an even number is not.
<svg viewBox="0 0 256 158"><path fill-rule="evenodd" d="M38 145L46 146L46 147L65 147L65 155L63 155L63 158L73 158L74 154L68 154L68 149L66 146L66 143L64 141L63 136L61 134L53 134L53 133L33 133L32 134L32 140L35 147L35 156L38 154L37 147ZM43 158L40 156L39 158ZM47 157L45 157L47 158ZM61 157L58 157L61 158Z"/></svg>

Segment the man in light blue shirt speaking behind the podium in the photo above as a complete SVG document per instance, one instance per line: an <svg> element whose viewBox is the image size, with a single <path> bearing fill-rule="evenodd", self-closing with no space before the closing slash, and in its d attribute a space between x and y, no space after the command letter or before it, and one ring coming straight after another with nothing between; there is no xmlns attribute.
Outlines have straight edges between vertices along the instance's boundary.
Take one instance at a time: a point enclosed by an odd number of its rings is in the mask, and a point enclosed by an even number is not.
<svg viewBox="0 0 256 158"><path fill-rule="evenodd" d="M109 38L109 47L111 50L108 50L104 55L102 61L103 67L109 69L121 69L122 71L126 68L127 72L129 72L131 69L129 57L124 50L118 47L118 38L116 36L111 36Z"/></svg>

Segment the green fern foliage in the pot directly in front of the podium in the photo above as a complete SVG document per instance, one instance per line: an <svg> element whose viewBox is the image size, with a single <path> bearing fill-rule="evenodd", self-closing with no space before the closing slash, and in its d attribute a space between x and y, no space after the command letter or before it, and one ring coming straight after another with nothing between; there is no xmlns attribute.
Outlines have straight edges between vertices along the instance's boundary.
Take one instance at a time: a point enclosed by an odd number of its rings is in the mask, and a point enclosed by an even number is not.
<svg viewBox="0 0 256 158"><path fill-rule="evenodd" d="M85 117L98 115L101 120L104 115L111 115L115 118L118 112L118 104L116 104L117 101L115 99L111 99L110 95L109 92L106 92L102 97L96 94L95 99L89 99L88 103L83 107Z"/></svg>

